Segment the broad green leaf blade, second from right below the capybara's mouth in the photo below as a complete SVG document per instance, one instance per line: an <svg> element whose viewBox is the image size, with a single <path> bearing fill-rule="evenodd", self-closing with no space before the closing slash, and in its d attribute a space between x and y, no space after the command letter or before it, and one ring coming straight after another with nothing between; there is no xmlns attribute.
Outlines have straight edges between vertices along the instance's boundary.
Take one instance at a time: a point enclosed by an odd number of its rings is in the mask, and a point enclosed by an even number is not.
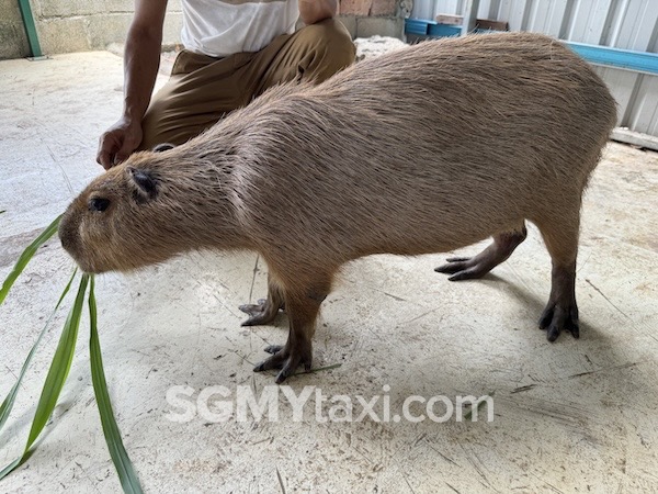
<svg viewBox="0 0 658 494"><path fill-rule="evenodd" d="M55 406L57 405L57 398L64 388L66 378L68 377L71 368L71 360L73 352L76 351L76 340L78 338L78 328L80 326L80 315L82 314L82 305L84 304L84 292L87 291L87 284L89 283L89 274L82 274L80 280L80 287L78 288L78 294L76 295L76 302L69 311L66 323L64 324L64 330L59 338L59 344L55 350L48 375L42 390L38 404L36 405L36 412L32 422L32 428L27 437L27 444L21 458L14 460L0 471L0 480L7 476L15 468L21 465L32 454L31 448L34 441L39 436L44 427L46 426L48 418L53 414Z"/></svg>

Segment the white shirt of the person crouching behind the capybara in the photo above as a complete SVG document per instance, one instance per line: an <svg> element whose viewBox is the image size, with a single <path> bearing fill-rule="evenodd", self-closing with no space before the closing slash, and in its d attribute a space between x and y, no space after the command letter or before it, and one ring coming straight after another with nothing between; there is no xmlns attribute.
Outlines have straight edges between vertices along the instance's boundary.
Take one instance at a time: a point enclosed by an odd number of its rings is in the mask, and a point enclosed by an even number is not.
<svg viewBox="0 0 658 494"><path fill-rule="evenodd" d="M181 40L186 49L212 57L258 52L292 34L297 0L183 0Z"/></svg>

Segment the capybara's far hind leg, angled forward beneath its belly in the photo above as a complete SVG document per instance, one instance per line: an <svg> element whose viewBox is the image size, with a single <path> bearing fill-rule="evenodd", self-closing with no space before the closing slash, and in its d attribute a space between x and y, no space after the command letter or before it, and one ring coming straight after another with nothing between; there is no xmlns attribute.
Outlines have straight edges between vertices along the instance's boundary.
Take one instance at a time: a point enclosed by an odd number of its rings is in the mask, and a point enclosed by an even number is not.
<svg viewBox="0 0 658 494"><path fill-rule="evenodd" d="M526 236L525 224L521 223L519 228L494 235L494 242L477 256L452 257L446 259L447 263L438 267L434 271L452 274L450 281L481 278L507 260Z"/></svg>

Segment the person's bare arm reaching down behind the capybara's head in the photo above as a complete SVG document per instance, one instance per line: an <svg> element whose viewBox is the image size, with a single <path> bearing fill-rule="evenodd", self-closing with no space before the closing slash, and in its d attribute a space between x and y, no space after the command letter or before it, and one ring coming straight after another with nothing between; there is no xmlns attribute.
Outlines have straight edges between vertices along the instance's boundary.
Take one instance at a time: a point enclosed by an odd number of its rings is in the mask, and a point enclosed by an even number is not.
<svg viewBox="0 0 658 494"><path fill-rule="evenodd" d="M101 136L97 155L105 169L125 160L141 143L141 119L160 66L166 11L167 0L135 0L124 55L123 115Z"/></svg>

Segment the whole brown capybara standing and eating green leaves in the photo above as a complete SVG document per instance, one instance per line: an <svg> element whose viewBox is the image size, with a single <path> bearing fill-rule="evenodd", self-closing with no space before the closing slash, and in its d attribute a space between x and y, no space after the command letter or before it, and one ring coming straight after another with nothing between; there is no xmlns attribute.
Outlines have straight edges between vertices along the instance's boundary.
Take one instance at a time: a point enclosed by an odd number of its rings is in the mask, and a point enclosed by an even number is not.
<svg viewBox="0 0 658 494"><path fill-rule="evenodd" d="M68 207L60 238L84 271L127 271L191 249L253 249L269 296L246 325L285 306L284 346L256 370L276 382L311 364L322 300L341 265L494 242L438 268L479 278L541 231L553 261L540 319L575 337L576 255L588 177L615 102L578 56L544 35L421 43L319 86L282 86L201 136L137 153Z"/></svg>

